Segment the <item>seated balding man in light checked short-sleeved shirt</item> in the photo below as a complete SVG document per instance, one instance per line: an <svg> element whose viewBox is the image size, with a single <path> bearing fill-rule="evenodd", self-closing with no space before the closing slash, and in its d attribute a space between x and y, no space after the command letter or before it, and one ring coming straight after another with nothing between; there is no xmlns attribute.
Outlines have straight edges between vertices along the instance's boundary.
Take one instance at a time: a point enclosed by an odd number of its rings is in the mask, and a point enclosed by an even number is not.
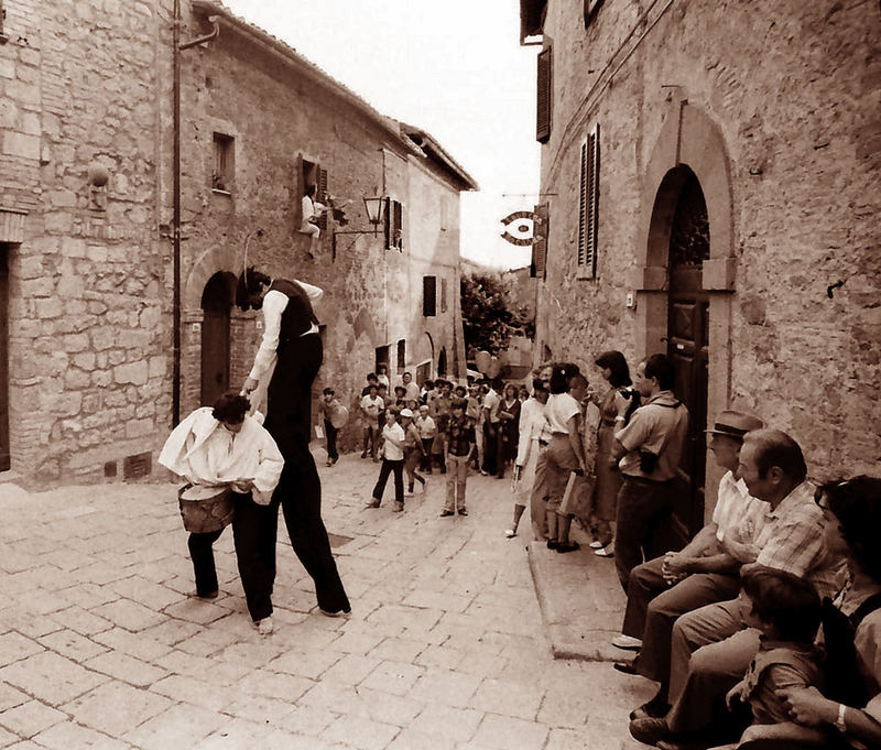
<svg viewBox="0 0 881 750"><path fill-rule="evenodd" d="M770 506L755 544L739 545L744 562L804 577L820 596L837 590L844 557L824 545L823 512L805 481L807 467L798 444L779 430L750 432L743 438L738 471L750 494ZM744 565L741 574L749 569ZM676 620L668 688L673 707L665 718L634 719L631 726L643 722L637 727L642 737L661 740L711 724L720 696L740 680L759 648L759 632L747 617L748 607L738 597Z"/></svg>

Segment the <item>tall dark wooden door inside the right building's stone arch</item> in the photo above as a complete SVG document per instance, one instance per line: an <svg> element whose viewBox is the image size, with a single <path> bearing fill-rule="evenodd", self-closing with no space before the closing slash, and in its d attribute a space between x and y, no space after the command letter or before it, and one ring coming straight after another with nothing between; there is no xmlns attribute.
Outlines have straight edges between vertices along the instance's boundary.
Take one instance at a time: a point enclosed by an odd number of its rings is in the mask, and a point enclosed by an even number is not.
<svg viewBox="0 0 881 750"><path fill-rule="evenodd" d="M674 512L692 535L704 524L710 295L704 290L703 265L710 251L707 205L689 167L667 172L655 208L670 216L667 357L676 368L676 395L690 415Z"/></svg>

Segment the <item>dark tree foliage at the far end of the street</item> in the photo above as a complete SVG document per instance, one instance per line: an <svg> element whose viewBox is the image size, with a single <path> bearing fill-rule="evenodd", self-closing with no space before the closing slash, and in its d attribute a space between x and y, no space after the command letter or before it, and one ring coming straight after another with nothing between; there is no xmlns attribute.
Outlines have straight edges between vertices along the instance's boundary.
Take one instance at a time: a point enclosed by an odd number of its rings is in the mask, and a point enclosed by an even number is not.
<svg viewBox="0 0 881 750"><path fill-rule="evenodd" d="M497 354L516 333L535 336L535 322L526 308L511 300L501 276L492 273L461 276L461 322L466 351Z"/></svg>

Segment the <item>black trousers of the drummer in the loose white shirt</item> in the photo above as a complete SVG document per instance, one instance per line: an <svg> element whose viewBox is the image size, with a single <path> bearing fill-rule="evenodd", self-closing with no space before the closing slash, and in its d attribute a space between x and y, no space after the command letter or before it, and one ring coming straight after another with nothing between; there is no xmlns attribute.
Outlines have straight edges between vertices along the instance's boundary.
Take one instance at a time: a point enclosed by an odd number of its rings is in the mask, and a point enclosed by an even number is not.
<svg viewBox="0 0 881 750"><path fill-rule="evenodd" d="M236 561L248 612L257 622L272 615L272 581L260 550L261 520L267 514L268 508L258 506L250 492L236 493L233 497L236 514L232 517L232 543L236 547ZM224 530L220 529L205 534L191 534L187 540L189 557L193 559L193 573L196 576L196 594L199 596L218 589L213 545L222 533Z"/></svg>

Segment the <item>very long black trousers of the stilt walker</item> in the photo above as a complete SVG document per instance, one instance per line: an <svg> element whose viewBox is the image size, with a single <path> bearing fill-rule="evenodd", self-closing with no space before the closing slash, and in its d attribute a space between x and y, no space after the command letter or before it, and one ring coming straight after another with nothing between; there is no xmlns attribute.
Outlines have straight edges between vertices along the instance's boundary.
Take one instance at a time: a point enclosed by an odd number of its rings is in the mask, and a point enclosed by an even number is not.
<svg viewBox="0 0 881 750"><path fill-rule="evenodd" d="M260 528L260 551L270 580L275 580L279 508L296 556L315 583L318 607L328 612L351 609L322 521L322 482L309 453L312 383L324 352L317 334L279 345L279 361L269 384L265 428L284 457L279 486ZM271 590L271 589L270 589Z"/></svg>

